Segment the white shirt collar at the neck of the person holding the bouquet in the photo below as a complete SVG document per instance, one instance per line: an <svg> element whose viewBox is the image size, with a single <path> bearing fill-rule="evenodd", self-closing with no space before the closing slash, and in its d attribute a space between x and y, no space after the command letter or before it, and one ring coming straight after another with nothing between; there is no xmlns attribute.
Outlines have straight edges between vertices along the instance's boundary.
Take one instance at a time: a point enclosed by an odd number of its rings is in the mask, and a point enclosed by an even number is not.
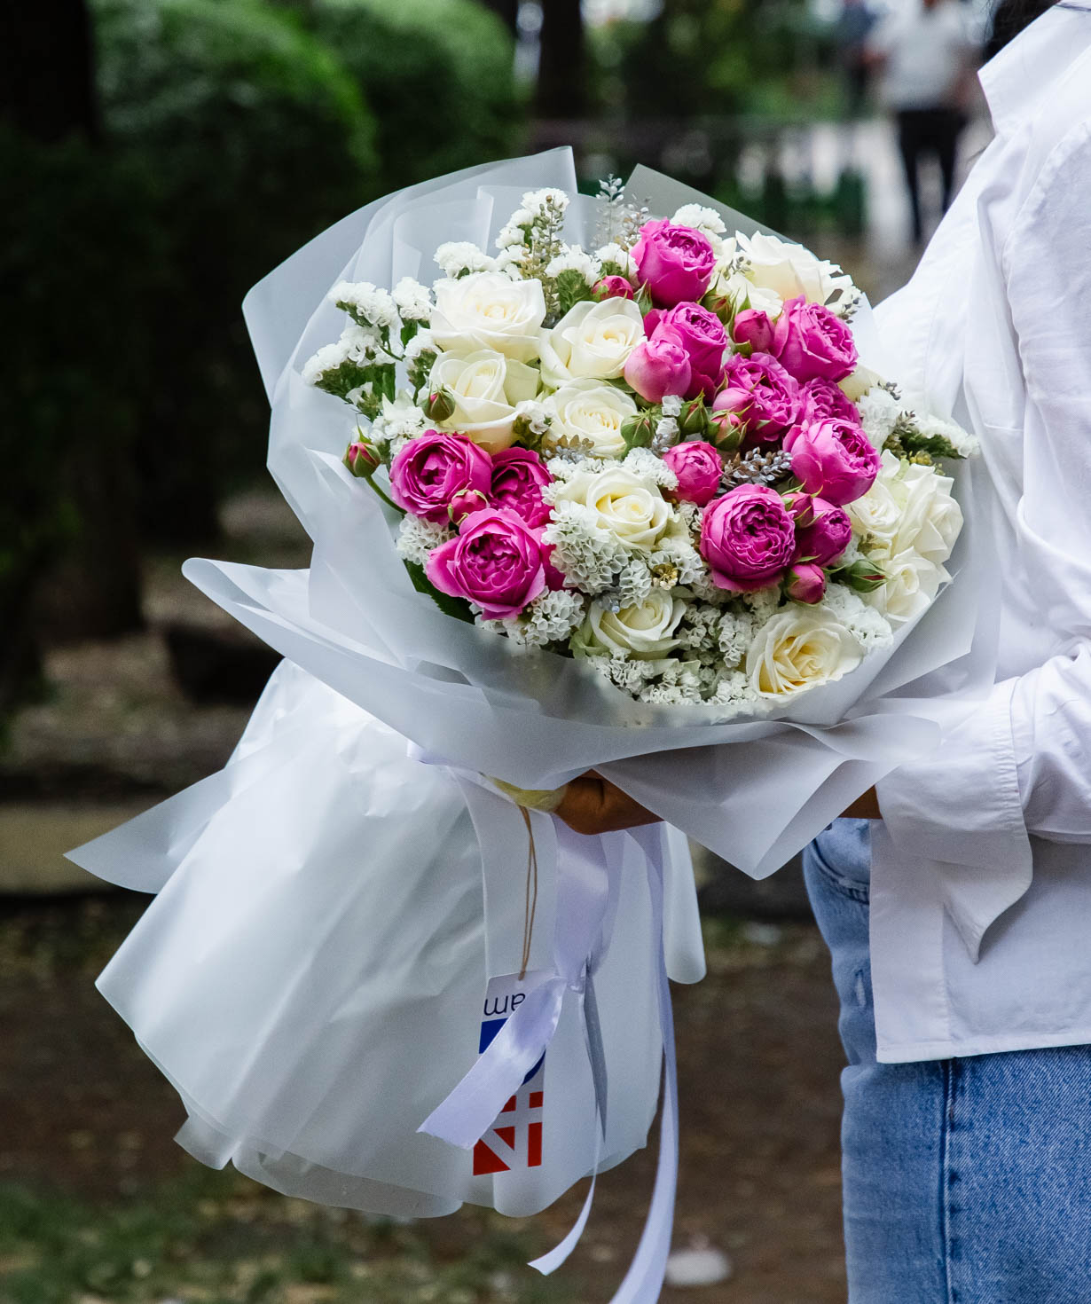
<svg viewBox="0 0 1091 1304"><path fill-rule="evenodd" d="M1014 126L1091 42L1091 0L1047 9L978 73L997 130Z"/></svg>

